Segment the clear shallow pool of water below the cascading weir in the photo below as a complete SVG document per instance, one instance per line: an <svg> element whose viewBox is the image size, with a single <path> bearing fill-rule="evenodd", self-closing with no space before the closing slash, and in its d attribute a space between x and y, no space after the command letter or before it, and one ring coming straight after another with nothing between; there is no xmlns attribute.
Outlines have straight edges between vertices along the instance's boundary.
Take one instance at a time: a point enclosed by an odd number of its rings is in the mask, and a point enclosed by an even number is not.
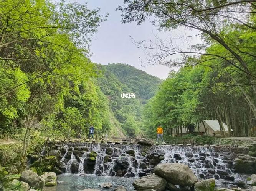
<svg viewBox="0 0 256 191"><path fill-rule="evenodd" d="M134 190L132 183L134 178L117 176L79 176L77 174L63 174L57 176L57 181L63 181L54 187L44 187L43 191L79 191L87 188L113 191L117 186L125 186L128 191ZM110 189L100 188L99 184L110 182L113 186Z"/></svg>

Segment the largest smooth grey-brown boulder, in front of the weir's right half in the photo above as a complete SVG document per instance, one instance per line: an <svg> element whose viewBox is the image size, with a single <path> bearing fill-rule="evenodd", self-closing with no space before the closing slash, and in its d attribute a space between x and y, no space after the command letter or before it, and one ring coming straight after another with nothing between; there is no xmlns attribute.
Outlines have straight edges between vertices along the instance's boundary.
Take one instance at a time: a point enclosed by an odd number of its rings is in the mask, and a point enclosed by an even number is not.
<svg viewBox="0 0 256 191"><path fill-rule="evenodd" d="M184 164L163 163L155 167L154 173L173 185L192 186L197 181L197 176Z"/></svg>

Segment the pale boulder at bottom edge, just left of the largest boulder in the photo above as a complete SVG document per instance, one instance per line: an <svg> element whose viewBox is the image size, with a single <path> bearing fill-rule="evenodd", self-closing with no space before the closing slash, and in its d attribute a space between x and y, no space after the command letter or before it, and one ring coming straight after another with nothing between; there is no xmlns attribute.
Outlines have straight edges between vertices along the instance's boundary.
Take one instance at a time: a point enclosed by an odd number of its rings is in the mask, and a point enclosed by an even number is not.
<svg viewBox="0 0 256 191"><path fill-rule="evenodd" d="M157 175L147 175L135 180L132 185L137 191L145 191L147 189L154 189L156 191L164 191L166 180Z"/></svg>

